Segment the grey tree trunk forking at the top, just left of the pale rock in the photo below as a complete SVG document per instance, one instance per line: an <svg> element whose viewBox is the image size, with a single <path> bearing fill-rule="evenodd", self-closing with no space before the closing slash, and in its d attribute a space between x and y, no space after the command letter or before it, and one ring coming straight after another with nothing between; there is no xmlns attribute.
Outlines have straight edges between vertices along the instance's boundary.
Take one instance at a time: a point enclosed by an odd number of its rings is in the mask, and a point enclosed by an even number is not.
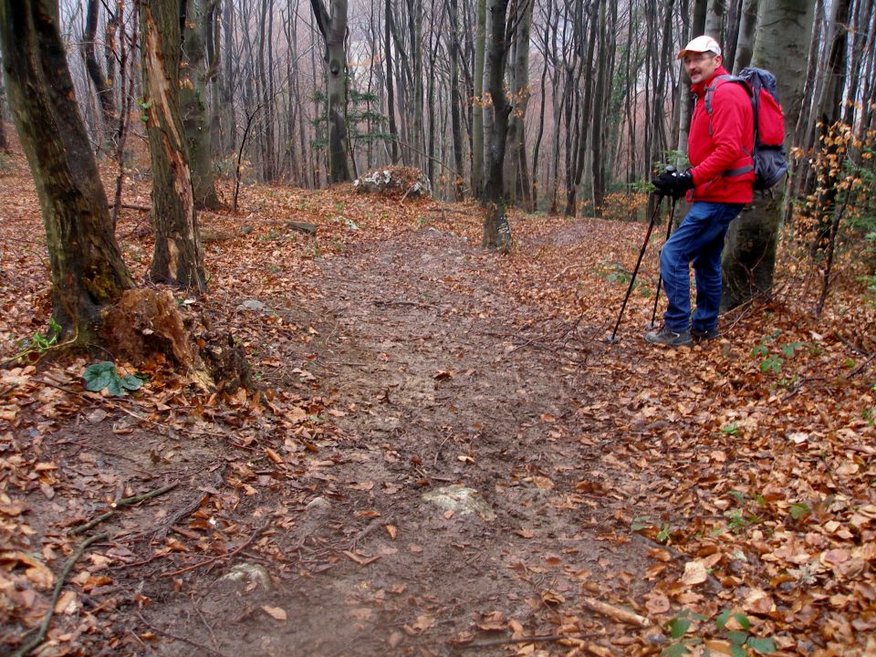
<svg viewBox="0 0 876 657"><path fill-rule="evenodd" d="M347 154L347 0L330 0L331 16L323 0L310 0L319 32L326 45L328 65L328 175L332 183L350 180Z"/></svg>

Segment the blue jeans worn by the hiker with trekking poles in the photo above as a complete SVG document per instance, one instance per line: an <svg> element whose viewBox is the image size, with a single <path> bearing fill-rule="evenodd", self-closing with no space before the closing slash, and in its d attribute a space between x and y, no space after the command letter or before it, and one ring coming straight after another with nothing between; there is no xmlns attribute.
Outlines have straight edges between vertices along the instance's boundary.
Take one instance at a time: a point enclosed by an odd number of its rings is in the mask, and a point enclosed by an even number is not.
<svg viewBox="0 0 876 657"><path fill-rule="evenodd" d="M682 333L691 328L692 262L696 280L694 328L706 331L718 326L721 251L727 228L743 207L742 203L694 203L682 224L663 245L660 274L669 300L663 323L669 330Z"/></svg>

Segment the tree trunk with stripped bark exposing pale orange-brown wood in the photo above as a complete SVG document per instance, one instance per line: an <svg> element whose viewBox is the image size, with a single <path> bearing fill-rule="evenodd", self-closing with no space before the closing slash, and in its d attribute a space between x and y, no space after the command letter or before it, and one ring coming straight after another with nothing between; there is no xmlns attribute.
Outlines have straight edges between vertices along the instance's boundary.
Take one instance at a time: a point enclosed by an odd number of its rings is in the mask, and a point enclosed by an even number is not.
<svg viewBox="0 0 876 657"><path fill-rule="evenodd" d="M180 119L180 8L180 0L141 0L143 108L155 227L150 276L203 292L203 255Z"/></svg>

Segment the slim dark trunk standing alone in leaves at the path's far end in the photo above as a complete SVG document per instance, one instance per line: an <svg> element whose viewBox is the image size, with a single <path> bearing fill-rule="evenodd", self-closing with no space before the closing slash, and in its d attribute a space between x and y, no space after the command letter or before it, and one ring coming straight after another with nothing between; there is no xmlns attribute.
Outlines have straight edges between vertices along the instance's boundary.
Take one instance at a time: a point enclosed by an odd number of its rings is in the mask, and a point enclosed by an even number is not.
<svg viewBox="0 0 876 657"><path fill-rule="evenodd" d="M508 251L511 248L511 227L505 207L504 166L508 118L511 105L505 96L505 64L508 50L506 16L510 0L489 0L490 39L489 78L487 90L492 100L491 122L485 187L486 214L484 218L485 248Z"/></svg>

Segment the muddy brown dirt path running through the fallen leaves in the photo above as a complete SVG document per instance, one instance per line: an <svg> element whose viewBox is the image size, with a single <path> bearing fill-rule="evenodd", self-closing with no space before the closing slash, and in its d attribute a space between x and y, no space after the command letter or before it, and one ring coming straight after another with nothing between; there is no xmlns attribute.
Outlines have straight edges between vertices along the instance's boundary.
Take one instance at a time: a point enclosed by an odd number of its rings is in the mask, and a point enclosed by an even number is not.
<svg viewBox="0 0 876 657"><path fill-rule="evenodd" d="M517 337L522 308L480 275L494 257L425 228L324 263L305 369L344 438L318 446L294 523L273 534L297 575L270 590L187 581L159 622L193 644L159 652L504 654L492 644L515 630L604 632L582 594L641 597L648 546L618 540L623 484L576 413L599 382L585 390ZM473 512L424 499L449 485L476 491Z"/></svg>

